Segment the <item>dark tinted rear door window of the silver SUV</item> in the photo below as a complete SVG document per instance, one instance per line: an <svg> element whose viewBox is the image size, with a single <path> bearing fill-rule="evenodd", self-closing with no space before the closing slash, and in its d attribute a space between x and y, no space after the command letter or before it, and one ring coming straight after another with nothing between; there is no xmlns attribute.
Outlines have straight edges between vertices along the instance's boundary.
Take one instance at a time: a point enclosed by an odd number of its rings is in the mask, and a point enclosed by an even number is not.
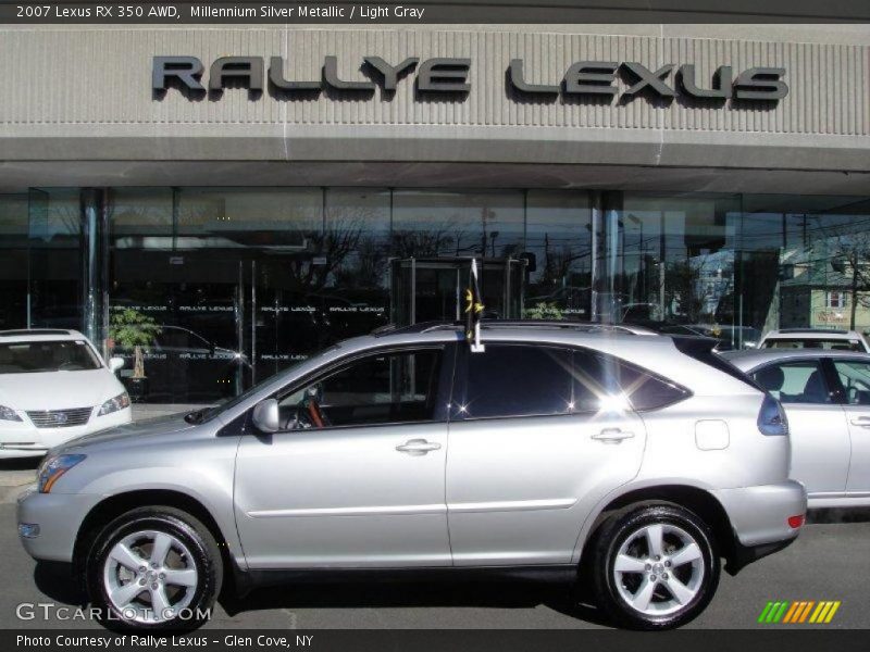
<svg viewBox="0 0 870 652"><path fill-rule="evenodd" d="M571 410L571 351L486 344L468 356L465 416L567 414ZM460 408L460 410L462 410Z"/></svg>

